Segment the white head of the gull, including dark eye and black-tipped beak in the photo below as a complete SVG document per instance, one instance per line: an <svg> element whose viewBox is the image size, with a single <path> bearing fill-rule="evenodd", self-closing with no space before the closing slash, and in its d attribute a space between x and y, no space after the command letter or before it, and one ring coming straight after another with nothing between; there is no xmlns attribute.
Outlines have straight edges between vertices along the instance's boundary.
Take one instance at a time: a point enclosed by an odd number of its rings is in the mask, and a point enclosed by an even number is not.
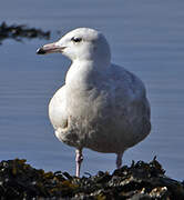
<svg viewBox="0 0 184 200"><path fill-rule="evenodd" d="M38 54L61 52L72 61L74 60L103 60L110 62L111 51L105 37L89 28L78 28L59 41L38 49Z"/></svg>

